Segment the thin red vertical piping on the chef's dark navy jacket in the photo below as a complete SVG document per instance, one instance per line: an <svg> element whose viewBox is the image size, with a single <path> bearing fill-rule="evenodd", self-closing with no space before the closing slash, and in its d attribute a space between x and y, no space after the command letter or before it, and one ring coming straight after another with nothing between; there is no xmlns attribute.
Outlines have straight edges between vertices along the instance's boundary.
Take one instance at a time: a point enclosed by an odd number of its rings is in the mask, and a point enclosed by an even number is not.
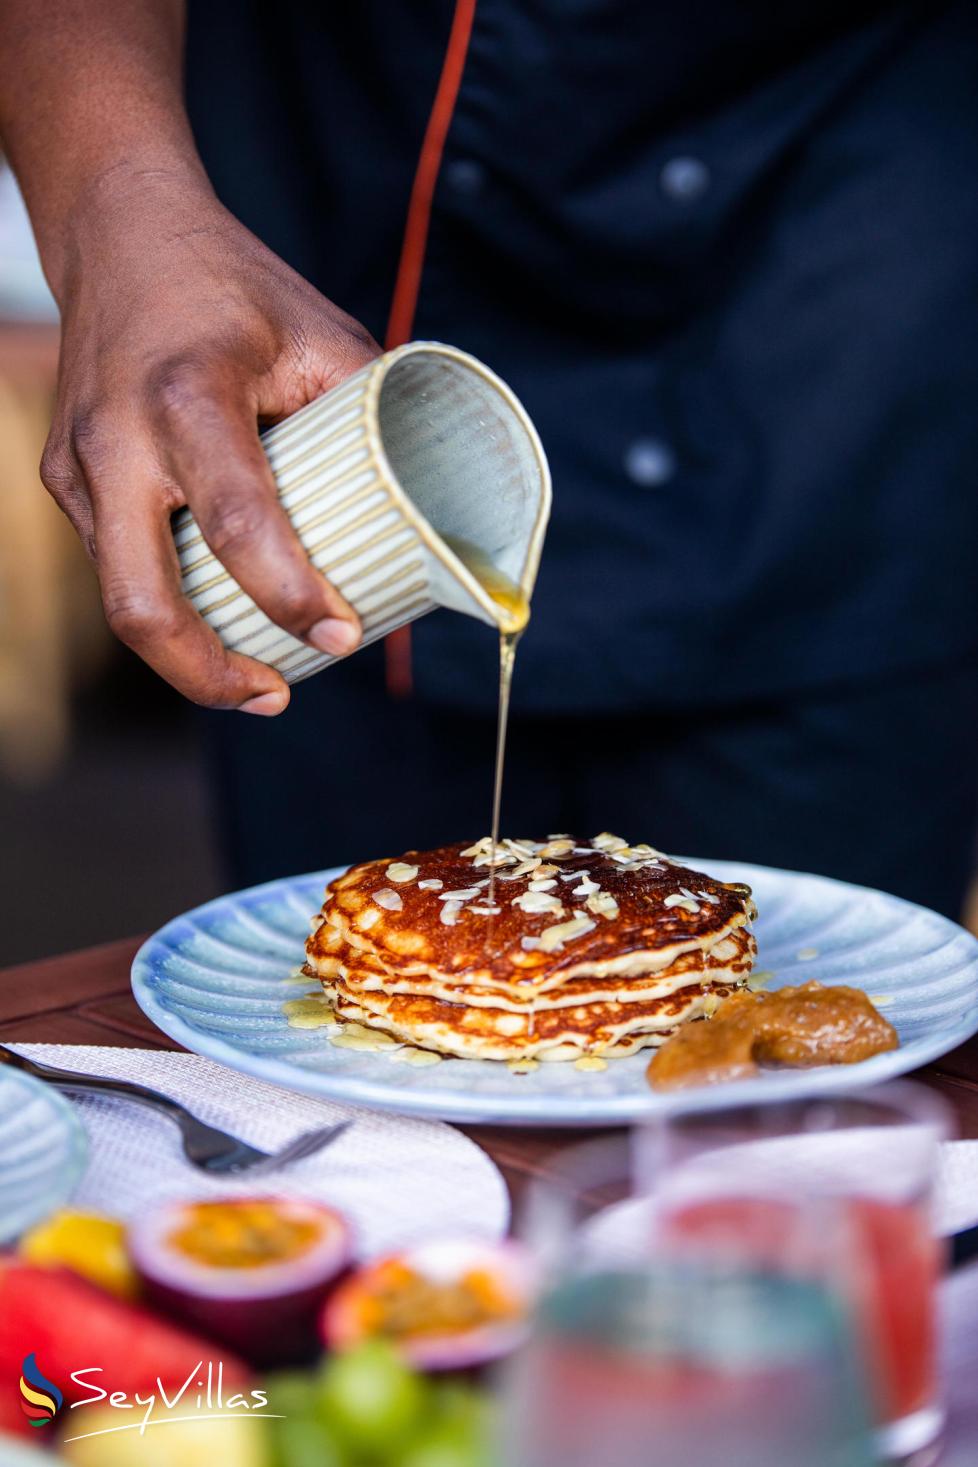
<svg viewBox="0 0 978 1467"><path fill-rule="evenodd" d="M452 18L449 44L441 63L438 88L431 104L431 116L425 129L418 170L411 189L405 235L394 279L394 293L390 302L387 318L387 333L384 348L403 346L411 340L415 312L418 310L418 293L421 290L421 274L424 270L425 251L428 248L428 226L431 223L431 201L434 198L441 157L444 154L446 138L455 116L455 104L462 85L462 72L469 54L469 40L472 37L472 22L475 19L477 0L456 0ZM411 628L400 626L391 632L384 643L387 666L387 691L393 698L411 697L413 676L411 666Z"/></svg>

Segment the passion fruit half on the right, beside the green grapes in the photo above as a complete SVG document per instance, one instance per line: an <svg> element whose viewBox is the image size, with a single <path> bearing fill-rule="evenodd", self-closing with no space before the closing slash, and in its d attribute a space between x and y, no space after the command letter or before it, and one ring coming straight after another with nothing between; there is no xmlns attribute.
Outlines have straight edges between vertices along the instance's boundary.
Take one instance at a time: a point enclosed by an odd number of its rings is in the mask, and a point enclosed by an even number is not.
<svg viewBox="0 0 978 1467"><path fill-rule="evenodd" d="M462 1370L522 1341L535 1292L518 1244L443 1238L348 1275L323 1310L323 1339L330 1350L387 1339L422 1370Z"/></svg>

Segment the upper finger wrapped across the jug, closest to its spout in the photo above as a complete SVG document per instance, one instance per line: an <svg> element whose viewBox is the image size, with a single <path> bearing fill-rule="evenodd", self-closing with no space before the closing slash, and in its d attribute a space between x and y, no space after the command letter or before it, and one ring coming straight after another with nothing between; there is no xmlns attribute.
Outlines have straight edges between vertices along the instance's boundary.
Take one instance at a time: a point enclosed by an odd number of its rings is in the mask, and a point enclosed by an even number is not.
<svg viewBox="0 0 978 1467"><path fill-rule="evenodd" d="M331 656L352 651L359 619L289 524L249 406L213 374L176 373L157 395L157 422L169 469L238 584L293 637Z"/></svg>

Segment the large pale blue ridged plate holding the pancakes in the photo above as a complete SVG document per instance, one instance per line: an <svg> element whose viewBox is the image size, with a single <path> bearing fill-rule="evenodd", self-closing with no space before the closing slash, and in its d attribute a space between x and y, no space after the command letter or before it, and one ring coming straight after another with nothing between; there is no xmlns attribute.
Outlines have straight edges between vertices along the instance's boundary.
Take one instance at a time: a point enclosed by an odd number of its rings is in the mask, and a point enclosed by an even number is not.
<svg viewBox="0 0 978 1467"><path fill-rule="evenodd" d="M648 1052L606 1071L569 1064L513 1075L491 1061L446 1059L412 1069L389 1055L337 1049L327 1031L290 1028L283 1003L305 990L287 974L304 961L309 918L336 871L221 896L167 923L136 954L136 1002L198 1055L309 1094L411 1115L501 1125L607 1125L657 1111L817 1094L915 1069L978 1030L978 942L911 902L820 876L730 861L692 861L721 880L749 882L760 910L758 968L771 987L818 978L852 983L880 1002L900 1047L861 1065L771 1071L760 1080L655 1096Z"/></svg>

